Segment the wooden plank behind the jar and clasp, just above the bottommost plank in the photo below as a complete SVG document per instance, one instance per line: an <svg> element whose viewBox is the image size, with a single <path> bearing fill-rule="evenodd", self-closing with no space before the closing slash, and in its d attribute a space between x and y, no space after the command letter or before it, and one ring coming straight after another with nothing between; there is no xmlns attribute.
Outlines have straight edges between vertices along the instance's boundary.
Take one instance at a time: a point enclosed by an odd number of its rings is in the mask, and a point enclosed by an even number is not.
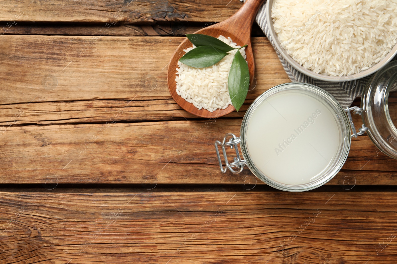
<svg viewBox="0 0 397 264"><path fill-rule="evenodd" d="M262 184L248 169L239 175L219 170L214 142L225 133L239 135L240 118L121 123L127 114L115 109L102 124L6 127L0 141L0 183L42 184L50 177L58 183L145 184L148 180L233 183L246 189ZM397 182L397 160L378 153L364 136L353 139L343 170L328 184Z"/></svg>

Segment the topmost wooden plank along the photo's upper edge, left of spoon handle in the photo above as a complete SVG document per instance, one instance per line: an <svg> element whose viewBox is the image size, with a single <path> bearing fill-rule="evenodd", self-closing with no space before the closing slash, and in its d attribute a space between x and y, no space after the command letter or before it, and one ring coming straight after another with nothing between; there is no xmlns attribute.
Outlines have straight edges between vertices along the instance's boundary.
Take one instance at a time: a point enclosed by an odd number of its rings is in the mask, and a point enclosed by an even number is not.
<svg viewBox="0 0 397 264"><path fill-rule="evenodd" d="M153 23L157 21L219 22L233 15L239 0L86 0L0 1L0 21ZM0 32L1 34L1 32Z"/></svg>

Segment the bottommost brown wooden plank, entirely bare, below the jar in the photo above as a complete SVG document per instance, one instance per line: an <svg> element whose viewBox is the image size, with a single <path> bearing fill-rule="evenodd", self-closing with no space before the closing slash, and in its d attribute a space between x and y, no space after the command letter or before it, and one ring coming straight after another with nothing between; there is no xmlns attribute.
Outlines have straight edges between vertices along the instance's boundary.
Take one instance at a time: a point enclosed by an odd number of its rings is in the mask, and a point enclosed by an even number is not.
<svg viewBox="0 0 397 264"><path fill-rule="evenodd" d="M0 193L2 263L383 263L394 192Z"/></svg>

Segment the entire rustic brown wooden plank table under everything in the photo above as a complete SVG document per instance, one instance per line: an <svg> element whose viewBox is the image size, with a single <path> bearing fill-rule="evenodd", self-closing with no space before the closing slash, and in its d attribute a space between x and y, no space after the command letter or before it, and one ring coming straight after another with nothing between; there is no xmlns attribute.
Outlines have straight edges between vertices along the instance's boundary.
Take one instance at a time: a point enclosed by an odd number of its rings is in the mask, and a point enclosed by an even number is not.
<svg viewBox="0 0 397 264"><path fill-rule="evenodd" d="M184 34L240 6L0 0L0 263L396 263L397 162L368 136L310 192L220 172L214 141L289 82L257 25L240 112L208 123L171 98Z"/></svg>

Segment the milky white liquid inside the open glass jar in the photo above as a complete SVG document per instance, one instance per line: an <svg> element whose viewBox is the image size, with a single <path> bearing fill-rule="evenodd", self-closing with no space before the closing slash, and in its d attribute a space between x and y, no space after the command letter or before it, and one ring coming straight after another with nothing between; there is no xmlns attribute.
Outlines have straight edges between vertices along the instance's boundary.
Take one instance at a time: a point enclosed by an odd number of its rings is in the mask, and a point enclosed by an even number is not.
<svg viewBox="0 0 397 264"><path fill-rule="evenodd" d="M254 110L245 142L264 175L283 184L304 184L333 163L341 136L326 103L289 91L268 97Z"/></svg>

